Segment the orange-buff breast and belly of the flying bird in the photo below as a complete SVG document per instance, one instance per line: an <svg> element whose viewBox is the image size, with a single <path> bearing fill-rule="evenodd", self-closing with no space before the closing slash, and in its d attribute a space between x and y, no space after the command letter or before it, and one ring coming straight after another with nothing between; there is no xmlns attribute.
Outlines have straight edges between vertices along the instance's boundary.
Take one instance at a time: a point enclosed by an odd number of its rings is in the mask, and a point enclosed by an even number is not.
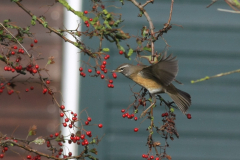
<svg viewBox="0 0 240 160"><path fill-rule="evenodd" d="M129 78L146 88L151 94L165 92L161 84L152 79L143 78L140 73L132 74Z"/></svg>

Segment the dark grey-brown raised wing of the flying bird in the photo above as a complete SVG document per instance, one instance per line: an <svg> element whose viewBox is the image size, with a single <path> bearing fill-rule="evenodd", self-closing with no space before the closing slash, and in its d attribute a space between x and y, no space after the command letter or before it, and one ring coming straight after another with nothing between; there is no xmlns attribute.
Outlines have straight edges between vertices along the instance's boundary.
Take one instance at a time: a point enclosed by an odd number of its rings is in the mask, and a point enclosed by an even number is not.
<svg viewBox="0 0 240 160"><path fill-rule="evenodd" d="M143 68L141 73L146 78L157 79L168 86L178 73L178 61L172 55L164 55L158 63Z"/></svg>

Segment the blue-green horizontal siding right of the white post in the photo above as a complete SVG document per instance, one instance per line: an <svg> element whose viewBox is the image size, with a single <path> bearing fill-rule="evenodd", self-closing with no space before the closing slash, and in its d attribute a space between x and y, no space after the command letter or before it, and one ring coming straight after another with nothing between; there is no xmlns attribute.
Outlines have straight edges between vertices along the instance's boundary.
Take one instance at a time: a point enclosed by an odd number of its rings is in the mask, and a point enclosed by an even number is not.
<svg viewBox="0 0 240 160"><path fill-rule="evenodd" d="M192 96L192 106L189 109L192 114L191 120L180 111L176 111L180 138L169 141L170 148L167 149L173 160L238 160L240 157L240 75L232 74L197 84L190 83L191 80L207 75L240 68L240 34L238 33L240 15L217 11L217 8L230 9L220 1L206 9L210 2L210 0L175 0L171 23L182 25L183 28L173 26L172 30L164 34L164 38L171 46L168 53L173 53L179 60L177 79L184 85L176 84L176 86ZM130 2L125 3L129 5L122 7L124 10L122 17L125 19L123 30L130 32L131 35L140 35L142 26L148 24L144 17L137 17L138 10L134 9ZM85 6L88 8L89 4ZM154 5L149 5L149 13L156 28L166 23L169 7L169 0L158 0ZM121 12L121 10L114 11ZM128 43L135 45L135 42ZM105 45L110 46L111 49L111 58L108 61L110 69L128 62L118 54L113 54L118 52L114 45L109 43ZM165 47L162 40L156 45L157 51L162 51ZM136 64L134 61L130 63ZM138 127L140 121L123 119L120 112L133 100L129 85L133 86L134 83L118 74L114 85L114 89L108 89L104 80L82 78L81 107L82 109L88 107L88 112L95 117L95 122L103 123L101 133L106 134L98 147L99 158L101 160L142 159L141 155L148 151L145 146L148 134L145 128L148 126L148 121L141 125L139 132L134 133L133 128ZM138 89L139 87L134 87L135 91ZM168 99L167 96L164 97ZM159 122L163 111L163 107L159 106L154 111L155 119ZM154 139L164 143L157 134L154 134Z"/></svg>

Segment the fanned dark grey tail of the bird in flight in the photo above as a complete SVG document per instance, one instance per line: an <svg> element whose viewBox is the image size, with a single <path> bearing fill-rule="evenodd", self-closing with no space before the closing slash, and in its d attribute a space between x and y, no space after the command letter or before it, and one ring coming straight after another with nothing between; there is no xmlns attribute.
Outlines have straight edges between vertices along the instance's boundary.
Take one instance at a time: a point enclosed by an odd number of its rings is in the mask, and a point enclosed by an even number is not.
<svg viewBox="0 0 240 160"><path fill-rule="evenodd" d="M176 93L172 94L167 92L167 94L172 98L177 107L185 114L191 105L191 96L176 88Z"/></svg>

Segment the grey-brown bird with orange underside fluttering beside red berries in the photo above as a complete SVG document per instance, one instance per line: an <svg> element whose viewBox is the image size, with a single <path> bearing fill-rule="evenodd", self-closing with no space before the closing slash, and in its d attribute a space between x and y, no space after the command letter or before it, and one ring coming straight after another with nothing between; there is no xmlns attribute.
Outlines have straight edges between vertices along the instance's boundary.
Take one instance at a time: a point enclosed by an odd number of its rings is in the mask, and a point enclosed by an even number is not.
<svg viewBox="0 0 240 160"><path fill-rule="evenodd" d="M112 72L122 73L149 91L154 101L144 111L144 115L156 103L155 96L160 93L167 93L183 114L186 114L191 105L191 96L172 84L178 73L178 60L172 54L164 54L157 63L150 66L124 63Z"/></svg>

